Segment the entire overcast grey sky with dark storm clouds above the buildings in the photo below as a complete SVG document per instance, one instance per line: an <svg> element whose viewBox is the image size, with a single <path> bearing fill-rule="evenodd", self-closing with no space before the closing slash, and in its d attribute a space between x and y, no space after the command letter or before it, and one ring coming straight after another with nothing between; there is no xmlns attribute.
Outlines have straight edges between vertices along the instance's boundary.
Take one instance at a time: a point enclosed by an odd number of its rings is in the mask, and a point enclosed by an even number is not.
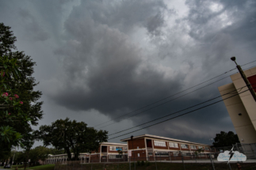
<svg viewBox="0 0 256 170"><path fill-rule="evenodd" d="M44 101L39 124L69 117L95 127L224 74L235 68L231 56L240 65L254 61L255 9L254 0L0 0L0 22L17 36L17 50L36 62L35 89ZM199 104L220 96L217 87L227 83L230 77L102 129L113 134ZM224 102L109 142L155 134L211 144L221 130L235 132Z"/></svg>

